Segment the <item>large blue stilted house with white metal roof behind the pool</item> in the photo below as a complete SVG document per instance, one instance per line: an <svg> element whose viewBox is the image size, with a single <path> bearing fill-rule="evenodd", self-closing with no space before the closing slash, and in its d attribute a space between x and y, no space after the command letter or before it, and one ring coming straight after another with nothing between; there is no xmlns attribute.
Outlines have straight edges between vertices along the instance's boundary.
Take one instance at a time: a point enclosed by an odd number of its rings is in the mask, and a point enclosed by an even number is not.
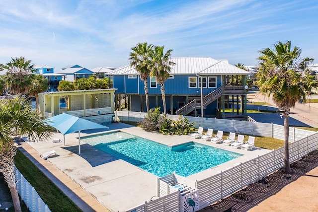
<svg viewBox="0 0 318 212"><path fill-rule="evenodd" d="M209 57L171 58L171 61L175 65L164 82L169 114L246 119L244 86L248 71L230 65L226 60ZM108 74L113 75L113 87L117 88L116 104L120 96L127 96L125 101L130 111L146 110L144 82L134 68L127 65ZM234 77L238 84L233 84ZM150 77L148 84L150 108L161 107L162 110L160 85L155 77ZM234 105L237 105L236 108ZM239 106L243 109L242 114L239 114ZM233 113L225 113L226 108L232 108Z"/></svg>

